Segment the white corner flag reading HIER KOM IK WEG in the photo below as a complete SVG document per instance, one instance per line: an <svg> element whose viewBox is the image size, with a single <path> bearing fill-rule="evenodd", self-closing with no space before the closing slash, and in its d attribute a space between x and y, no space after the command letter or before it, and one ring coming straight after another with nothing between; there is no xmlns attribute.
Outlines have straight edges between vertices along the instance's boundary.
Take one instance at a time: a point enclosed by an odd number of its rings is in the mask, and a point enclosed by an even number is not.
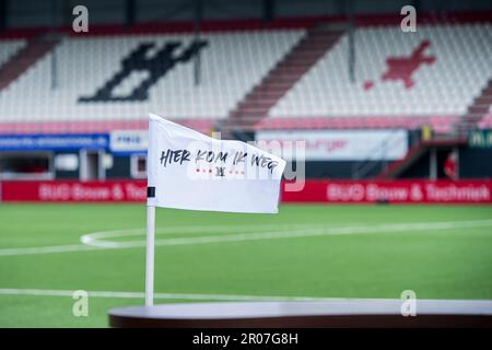
<svg viewBox="0 0 492 350"><path fill-rule="evenodd" d="M150 114L148 206L278 212L285 161L241 141L223 141Z"/></svg>

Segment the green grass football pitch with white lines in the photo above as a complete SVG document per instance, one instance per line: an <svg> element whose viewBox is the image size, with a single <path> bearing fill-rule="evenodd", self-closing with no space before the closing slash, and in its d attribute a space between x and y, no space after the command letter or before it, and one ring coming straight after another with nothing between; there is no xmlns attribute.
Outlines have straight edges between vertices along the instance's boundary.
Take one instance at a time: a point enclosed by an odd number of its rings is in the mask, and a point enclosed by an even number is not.
<svg viewBox="0 0 492 350"><path fill-rule="evenodd" d="M490 206L156 212L156 293L492 299ZM91 292L143 292L144 205L1 205L0 223L0 327L105 327L108 308L143 304ZM85 249L81 236L102 231L115 248ZM54 294L73 290L89 291L87 317ZM179 295L156 303L194 301Z"/></svg>

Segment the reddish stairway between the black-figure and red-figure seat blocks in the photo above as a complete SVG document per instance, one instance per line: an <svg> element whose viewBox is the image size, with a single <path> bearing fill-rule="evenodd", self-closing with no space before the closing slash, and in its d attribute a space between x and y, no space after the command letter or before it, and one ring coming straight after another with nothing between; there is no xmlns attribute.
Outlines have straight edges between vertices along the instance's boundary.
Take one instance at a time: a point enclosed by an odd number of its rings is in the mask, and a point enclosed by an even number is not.
<svg viewBox="0 0 492 350"><path fill-rule="evenodd" d="M315 26L222 120L221 130L250 129L342 36L343 30Z"/></svg>

